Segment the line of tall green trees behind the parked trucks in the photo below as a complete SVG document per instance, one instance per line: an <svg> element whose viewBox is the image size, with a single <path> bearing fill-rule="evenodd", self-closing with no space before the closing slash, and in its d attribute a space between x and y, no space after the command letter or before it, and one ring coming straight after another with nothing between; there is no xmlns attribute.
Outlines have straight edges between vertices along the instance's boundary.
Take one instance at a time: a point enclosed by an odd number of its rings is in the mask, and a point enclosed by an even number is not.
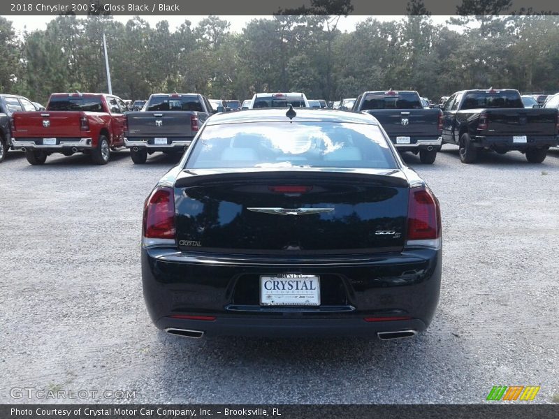
<svg viewBox="0 0 559 419"><path fill-rule="evenodd" d="M209 16L150 27L110 15L58 16L45 30L17 36L0 17L0 92L45 102L55 91L107 91L106 34L112 91L124 99L154 92L198 92L245 99L259 91L303 91L340 100L370 89L415 89L437 100L460 89L559 91L559 17L480 16L433 23L428 15L351 32L342 15L276 15L240 33Z"/></svg>

